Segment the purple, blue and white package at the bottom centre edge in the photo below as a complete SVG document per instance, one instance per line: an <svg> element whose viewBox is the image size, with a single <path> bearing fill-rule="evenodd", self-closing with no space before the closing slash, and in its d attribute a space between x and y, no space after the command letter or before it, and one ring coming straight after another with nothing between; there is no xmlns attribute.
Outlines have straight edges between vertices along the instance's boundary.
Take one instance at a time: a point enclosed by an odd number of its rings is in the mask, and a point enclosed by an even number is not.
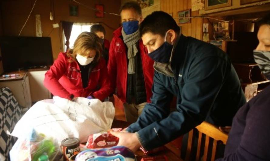
<svg viewBox="0 0 270 161"><path fill-rule="evenodd" d="M87 149L80 152L75 161L136 161L134 153L123 146L103 149Z"/></svg>

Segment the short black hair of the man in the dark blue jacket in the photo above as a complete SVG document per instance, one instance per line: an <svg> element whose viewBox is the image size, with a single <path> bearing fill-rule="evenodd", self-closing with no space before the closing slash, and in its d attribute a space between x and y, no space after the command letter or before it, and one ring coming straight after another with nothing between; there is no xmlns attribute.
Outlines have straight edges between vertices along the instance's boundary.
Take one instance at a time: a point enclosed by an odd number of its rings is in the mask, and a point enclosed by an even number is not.
<svg viewBox="0 0 270 161"><path fill-rule="evenodd" d="M180 32L180 27L176 24L174 19L163 11L154 11L149 14L140 24L140 36L147 32L152 34L159 34L165 36L168 30L174 30L177 34Z"/></svg>

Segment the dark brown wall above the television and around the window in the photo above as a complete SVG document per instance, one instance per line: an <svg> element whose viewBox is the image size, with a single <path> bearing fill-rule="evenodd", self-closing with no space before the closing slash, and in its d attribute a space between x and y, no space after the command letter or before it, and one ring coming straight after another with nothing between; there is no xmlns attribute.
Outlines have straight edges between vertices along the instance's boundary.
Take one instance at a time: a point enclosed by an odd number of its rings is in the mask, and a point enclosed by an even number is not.
<svg viewBox="0 0 270 161"><path fill-rule="evenodd" d="M35 0L16 0L9 1L5 0L2 3L2 28L3 35L5 36L18 36L19 32L25 23L29 12L34 4ZM94 11L86 8L82 5L78 5L72 0L53 0L55 8L55 20L49 19L49 12L51 9L50 0L40 1L38 0L29 17L25 28L22 30L21 36L35 36L35 14L41 15L42 23L42 36L51 37L52 40L52 52L54 59L57 58L60 51L62 51L62 31L55 28L53 29L52 24L59 23L60 21L72 21L72 22L104 22L113 29L116 29L120 25L120 16L105 14L104 18L96 18ZM100 3L104 5L104 11L119 14L120 0L80 0L79 2L94 7L94 4ZM78 16L69 16L69 5L78 5ZM105 27L107 32L106 38L111 40L113 36L113 29ZM50 33L51 32L51 33ZM50 34L49 34L50 33Z"/></svg>

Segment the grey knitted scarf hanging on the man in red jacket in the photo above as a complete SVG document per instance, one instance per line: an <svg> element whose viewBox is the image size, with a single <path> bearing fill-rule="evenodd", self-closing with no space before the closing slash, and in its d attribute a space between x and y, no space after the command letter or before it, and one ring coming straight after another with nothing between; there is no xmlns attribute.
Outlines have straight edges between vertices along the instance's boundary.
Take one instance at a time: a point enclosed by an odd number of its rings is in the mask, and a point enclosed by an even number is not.
<svg viewBox="0 0 270 161"><path fill-rule="evenodd" d="M135 73L135 56L138 53L138 49L136 43L140 40L139 30L134 32L133 34L127 35L122 28L122 36L124 43L127 45L127 58L129 60L127 72L128 74Z"/></svg>

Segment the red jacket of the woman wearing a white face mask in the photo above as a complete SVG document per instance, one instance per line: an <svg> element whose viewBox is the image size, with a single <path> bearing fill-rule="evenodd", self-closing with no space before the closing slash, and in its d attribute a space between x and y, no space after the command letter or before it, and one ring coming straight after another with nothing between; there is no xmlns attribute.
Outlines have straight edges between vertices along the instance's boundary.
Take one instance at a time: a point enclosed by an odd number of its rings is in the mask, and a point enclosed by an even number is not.
<svg viewBox="0 0 270 161"><path fill-rule="evenodd" d="M84 89L80 75L80 68L76 61L68 62L66 53L59 53L51 68L46 72L44 86L53 94L62 98L68 98L71 94L75 97L87 97L104 100L110 91L107 77L106 62L101 58L92 69L88 86ZM100 86L100 89L98 89Z"/></svg>

